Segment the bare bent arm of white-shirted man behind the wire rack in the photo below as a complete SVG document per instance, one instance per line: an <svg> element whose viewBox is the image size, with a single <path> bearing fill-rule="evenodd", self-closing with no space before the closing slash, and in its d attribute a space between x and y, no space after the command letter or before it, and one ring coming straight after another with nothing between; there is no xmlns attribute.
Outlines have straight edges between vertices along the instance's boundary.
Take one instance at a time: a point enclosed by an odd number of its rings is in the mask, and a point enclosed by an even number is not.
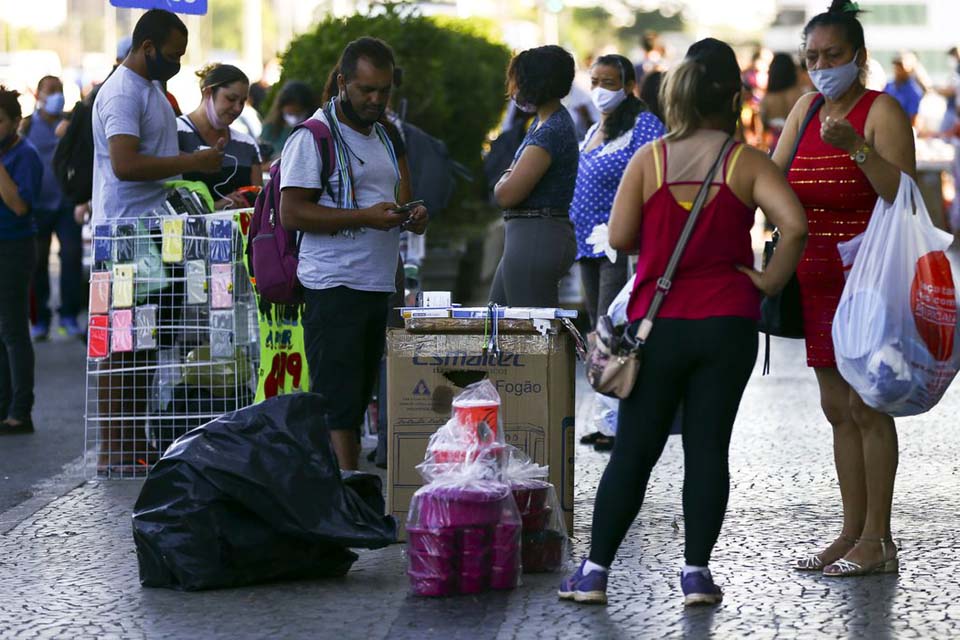
<svg viewBox="0 0 960 640"><path fill-rule="evenodd" d="M186 172L215 173L223 164L224 144L220 140L213 149L159 157L140 153L136 136L116 135L109 140L110 165L117 178L129 182L165 180Z"/></svg>

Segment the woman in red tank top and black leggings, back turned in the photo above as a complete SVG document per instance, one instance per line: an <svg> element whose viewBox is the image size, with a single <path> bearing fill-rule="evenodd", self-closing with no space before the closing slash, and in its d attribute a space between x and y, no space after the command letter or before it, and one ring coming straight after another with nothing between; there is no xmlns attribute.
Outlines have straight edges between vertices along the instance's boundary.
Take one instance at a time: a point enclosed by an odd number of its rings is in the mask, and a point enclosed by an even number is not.
<svg viewBox="0 0 960 640"><path fill-rule="evenodd" d="M690 47L666 77L669 133L627 165L610 218L610 244L638 252L631 321L647 312L657 282L709 168L740 114L740 69L733 50L708 38ZM606 602L607 569L643 503L650 471L683 403L685 604L715 604L722 592L708 569L726 512L727 450L740 398L757 356L761 293L786 284L803 250L803 209L763 153L734 145L723 158L669 295L644 343L632 393L621 401L617 438L597 489L589 559L560 597ZM753 269L750 228L762 208L781 230L764 273Z"/></svg>

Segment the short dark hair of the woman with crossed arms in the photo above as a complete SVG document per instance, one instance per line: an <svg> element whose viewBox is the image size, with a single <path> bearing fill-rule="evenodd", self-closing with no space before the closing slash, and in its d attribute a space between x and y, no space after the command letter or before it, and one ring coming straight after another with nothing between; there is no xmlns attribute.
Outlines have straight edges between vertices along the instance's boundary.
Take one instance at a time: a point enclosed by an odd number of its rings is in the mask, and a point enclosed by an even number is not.
<svg viewBox="0 0 960 640"><path fill-rule="evenodd" d="M576 72L573 56L555 44L521 51L507 68L507 94L537 105L570 93Z"/></svg>

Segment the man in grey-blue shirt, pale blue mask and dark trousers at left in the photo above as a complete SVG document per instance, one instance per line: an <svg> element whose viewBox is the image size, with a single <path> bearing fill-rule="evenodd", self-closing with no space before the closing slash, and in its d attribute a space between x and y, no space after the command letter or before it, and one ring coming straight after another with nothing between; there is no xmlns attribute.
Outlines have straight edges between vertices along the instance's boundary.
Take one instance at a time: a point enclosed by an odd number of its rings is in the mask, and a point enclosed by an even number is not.
<svg viewBox="0 0 960 640"><path fill-rule="evenodd" d="M20 133L40 154L43 183L34 202L37 222L37 268L33 273L33 295L37 318L30 331L35 341L46 340L50 331L50 240L54 233L60 244L60 332L83 337L77 324L83 301L83 244L80 225L73 216L73 203L67 200L53 173L53 154L60 139L58 127L63 122L63 83L55 76L45 76L37 85L37 109L23 119Z"/></svg>

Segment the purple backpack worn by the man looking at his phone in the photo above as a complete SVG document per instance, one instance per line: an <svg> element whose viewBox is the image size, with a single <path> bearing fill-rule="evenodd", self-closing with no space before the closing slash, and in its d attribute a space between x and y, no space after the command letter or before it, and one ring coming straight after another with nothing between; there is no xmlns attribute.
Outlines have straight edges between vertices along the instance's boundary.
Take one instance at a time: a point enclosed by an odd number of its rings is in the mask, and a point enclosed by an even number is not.
<svg viewBox="0 0 960 640"><path fill-rule="evenodd" d="M313 134L323 161L320 183L325 191L330 191L330 174L337 162L330 129L315 118L308 118L294 131L298 129ZM270 167L270 179L253 205L248 234L247 268L260 298L274 304L300 304L303 301L302 287L297 279L300 234L284 229L280 220L280 160Z"/></svg>

